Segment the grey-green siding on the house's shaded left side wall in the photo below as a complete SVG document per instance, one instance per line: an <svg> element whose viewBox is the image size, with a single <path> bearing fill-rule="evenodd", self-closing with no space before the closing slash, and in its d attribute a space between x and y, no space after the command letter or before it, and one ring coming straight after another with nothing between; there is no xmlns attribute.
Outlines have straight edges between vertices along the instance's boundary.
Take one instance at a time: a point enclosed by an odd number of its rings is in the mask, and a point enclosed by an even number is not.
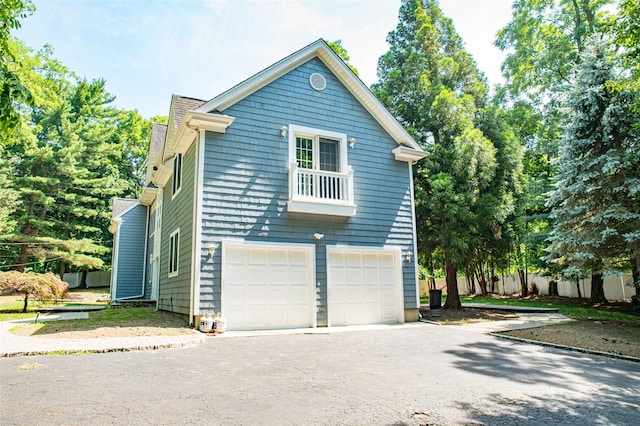
<svg viewBox="0 0 640 426"><path fill-rule="evenodd" d="M182 186L174 196L168 182L162 192L162 241L160 249L160 283L158 307L162 310L189 314L191 292L191 252L193 247L193 196L195 189L195 157L197 143L193 143L182 157ZM171 178L173 180L173 177ZM178 275L169 277L169 242L171 234L180 229Z"/></svg>

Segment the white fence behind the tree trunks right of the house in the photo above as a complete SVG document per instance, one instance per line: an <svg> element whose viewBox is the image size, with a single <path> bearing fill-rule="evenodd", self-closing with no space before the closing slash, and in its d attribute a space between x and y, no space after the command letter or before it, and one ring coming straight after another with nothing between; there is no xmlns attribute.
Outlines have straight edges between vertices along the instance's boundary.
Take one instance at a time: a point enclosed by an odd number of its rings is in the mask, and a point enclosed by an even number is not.
<svg viewBox="0 0 640 426"><path fill-rule="evenodd" d="M517 274L499 275L499 281L495 285L495 293L510 295L520 292L520 279ZM538 293L542 295L549 294L549 279L538 274L528 275L529 288L535 283ZM446 294L446 283L444 279L436 280L436 287L443 290ZM476 289L478 285L476 283ZM489 290L489 289L488 289ZM467 288L467 280L462 277L458 278L458 292L461 295L469 294ZM591 277L580 280L580 292L582 297L589 298L591 295ZM575 281L558 281L558 294L563 297L578 297L578 289ZM610 275L604 279L604 296L607 300L623 300L630 299L636 294L633 287L633 278L631 275ZM420 296L428 296L429 287L427 281L420 281Z"/></svg>

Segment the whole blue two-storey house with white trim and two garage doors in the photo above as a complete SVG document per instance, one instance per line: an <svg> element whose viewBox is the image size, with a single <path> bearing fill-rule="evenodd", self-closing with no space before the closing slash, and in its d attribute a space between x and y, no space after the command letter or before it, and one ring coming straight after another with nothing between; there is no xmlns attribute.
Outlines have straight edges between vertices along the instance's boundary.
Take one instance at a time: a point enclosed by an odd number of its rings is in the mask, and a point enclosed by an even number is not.
<svg viewBox="0 0 640 426"><path fill-rule="evenodd" d="M318 40L209 100L173 96L115 200L112 300L231 330L418 319L425 152Z"/></svg>

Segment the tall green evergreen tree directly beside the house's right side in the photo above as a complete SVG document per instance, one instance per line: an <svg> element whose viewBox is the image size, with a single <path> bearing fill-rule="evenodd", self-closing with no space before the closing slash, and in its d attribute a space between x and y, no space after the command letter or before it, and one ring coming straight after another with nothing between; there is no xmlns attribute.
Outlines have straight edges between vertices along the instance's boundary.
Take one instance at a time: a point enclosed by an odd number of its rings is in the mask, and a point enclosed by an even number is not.
<svg viewBox="0 0 640 426"><path fill-rule="evenodd" d="M457 272L478 223L474 204L496 170L496 149L474 124L485 79L435 0L404 0L387 41L373 89L429 152L414 172L419 251L442 253L445 308L458 309Z"/></svg>

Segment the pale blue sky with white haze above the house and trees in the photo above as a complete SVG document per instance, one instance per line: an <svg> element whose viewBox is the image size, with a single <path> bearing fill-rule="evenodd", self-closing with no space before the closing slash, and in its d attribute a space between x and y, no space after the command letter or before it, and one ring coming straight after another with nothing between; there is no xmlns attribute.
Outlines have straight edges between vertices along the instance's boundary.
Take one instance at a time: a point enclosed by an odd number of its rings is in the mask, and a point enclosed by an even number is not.
<svg viewBox="0 0 640 426"><path fill-rule="evenodd" d="M493 41L513 0L440 0L491 86L504 53ZM114 105L169 114L172 94L209 100L323 38L341 40L365 84L398 24L400 0L34 0L14 35L54 48L80 77L103 78Z"/></svg>

